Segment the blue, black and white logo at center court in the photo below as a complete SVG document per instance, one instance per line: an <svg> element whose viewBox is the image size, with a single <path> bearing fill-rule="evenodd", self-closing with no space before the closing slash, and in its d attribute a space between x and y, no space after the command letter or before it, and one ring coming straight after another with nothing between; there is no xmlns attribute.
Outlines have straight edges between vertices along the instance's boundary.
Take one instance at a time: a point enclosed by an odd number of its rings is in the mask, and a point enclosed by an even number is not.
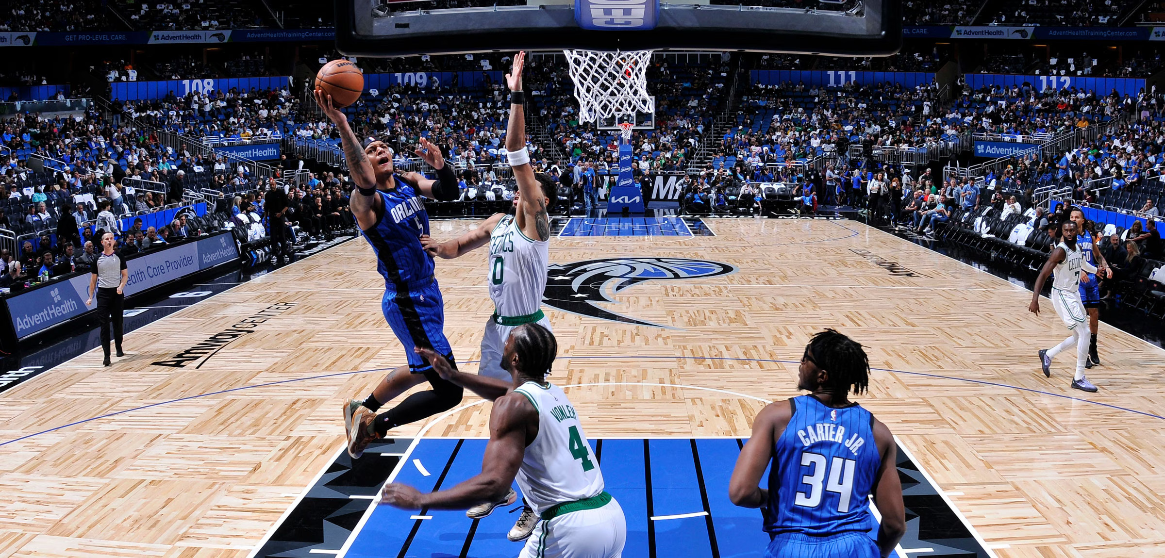
<svg viewBox="0 0 1165 558"><path fill-rule="evenodd" d="M612 312L599 303L613 303L610 296L645 281L673 281L718 277L736 273L735 266L683 257L615 257L553 264L548 268L546 290L542 297L548 306L564 312L622 324L665 325L643 322Z"/></svg>

